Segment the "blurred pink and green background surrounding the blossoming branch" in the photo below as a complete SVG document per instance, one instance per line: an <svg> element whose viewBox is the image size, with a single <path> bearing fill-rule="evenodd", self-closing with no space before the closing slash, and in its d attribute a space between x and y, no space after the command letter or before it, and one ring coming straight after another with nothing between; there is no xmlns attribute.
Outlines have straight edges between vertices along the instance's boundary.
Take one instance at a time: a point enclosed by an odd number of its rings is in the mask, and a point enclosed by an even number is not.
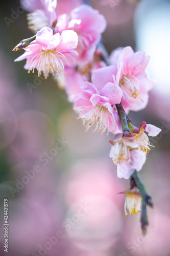
<svg viewBox="0 0 170 256"><path fill-rule="evenodd" d="M59 1L62 5L61 0ZM66 1L64 1L65 3ZM107 19L103 35L110 53L122 46L151 55L148 71L157 81L147 108L129 117L162 129L140 176L153 196L145 237L140 215L125 216L119 191L129 182L116 177L109 158L112 135L84 132L72 104L52 77L37 79L14 63L12 49L32 36L26 11L9 27L19 1L3 1L0 42L0 255L4 252L4 198L9 203L9 256L168 256L169 186L169 1L91 0ZM64 7L64 6L63 6ZM30 93L29 84L36 86Z"/></svg>

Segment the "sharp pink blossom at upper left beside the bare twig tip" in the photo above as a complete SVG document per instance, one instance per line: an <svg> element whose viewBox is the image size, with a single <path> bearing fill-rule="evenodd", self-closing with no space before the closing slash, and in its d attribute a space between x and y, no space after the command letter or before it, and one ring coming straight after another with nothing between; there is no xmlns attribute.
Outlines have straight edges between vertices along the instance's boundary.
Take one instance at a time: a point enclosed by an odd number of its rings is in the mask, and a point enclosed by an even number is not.
<svg viewBox="0 0 170 256"><path fill-rule="evenodd" d="M65 65L71 65L78 53L74 50L78 44L78 36L75 31L63 31L53 35L51 28L44 27L37 32L36 39L25 48L25 53L15 61L27 59L24 68L28 73L37 69L38 76L45 78L49 73L62 74Z"/></svg>

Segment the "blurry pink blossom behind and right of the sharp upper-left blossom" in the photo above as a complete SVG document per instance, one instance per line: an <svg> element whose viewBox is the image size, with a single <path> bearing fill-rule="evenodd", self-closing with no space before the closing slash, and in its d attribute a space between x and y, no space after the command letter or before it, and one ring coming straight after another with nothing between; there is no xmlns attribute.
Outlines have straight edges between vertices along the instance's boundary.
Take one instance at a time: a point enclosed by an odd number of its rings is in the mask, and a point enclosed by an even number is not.
<svg viewBox="0 0 170 256"><path fill-rule="evenodd" d="M98 10L87 5L81 5L66 14L60 15L57 20L56 32L74 30L78 34L79 42L77 63L80 66L92 61L96 45L101 40L101 34L106 29L106 19Z"/></svg>

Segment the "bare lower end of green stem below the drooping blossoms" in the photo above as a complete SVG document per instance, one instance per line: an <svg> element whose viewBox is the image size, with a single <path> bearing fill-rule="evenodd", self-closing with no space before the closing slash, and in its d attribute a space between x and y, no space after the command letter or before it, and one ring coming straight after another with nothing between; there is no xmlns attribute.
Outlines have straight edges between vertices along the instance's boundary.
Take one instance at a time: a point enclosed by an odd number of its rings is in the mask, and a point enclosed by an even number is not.
<svg viewBox="0 0 170 256"><path fill-rule="evenodd" d="M152 197L150 195L148 195L147 190L145 189L139 174L135 172L132 174L131 176L135 183L136 186L139 189L140 195L142 197L142 209L141 209L141 219L140 219L140 223L141 223L141 229L142 229L142 234L145 235L146 231L147 231L147 226L149 225L148 222L148 215L147 215L147 205L149 205L150 207L153 207L153 201L152 201Z"/></svg>

